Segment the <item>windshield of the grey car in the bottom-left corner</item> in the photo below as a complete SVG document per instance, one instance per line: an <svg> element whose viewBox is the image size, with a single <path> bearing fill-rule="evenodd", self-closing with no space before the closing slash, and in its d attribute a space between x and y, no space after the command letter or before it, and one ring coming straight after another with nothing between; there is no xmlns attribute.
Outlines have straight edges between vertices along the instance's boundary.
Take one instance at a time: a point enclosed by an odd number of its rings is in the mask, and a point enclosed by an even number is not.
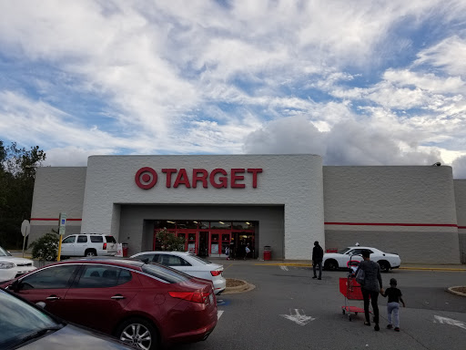
<svg viewBox="0 0 466 350"><path fill-rule="evenodd" d="M57 323L49 315L3 290L0 290L0 305L1 349L15 347L34 338L35 335L41 336L65 325Z"/></svg>

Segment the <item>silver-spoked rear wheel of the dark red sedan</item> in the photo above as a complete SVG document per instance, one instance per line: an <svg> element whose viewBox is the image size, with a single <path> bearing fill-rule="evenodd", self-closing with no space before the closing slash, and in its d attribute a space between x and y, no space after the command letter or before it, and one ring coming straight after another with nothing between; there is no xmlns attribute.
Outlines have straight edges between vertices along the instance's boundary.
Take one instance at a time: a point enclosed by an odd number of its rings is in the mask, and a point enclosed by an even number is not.
<svg viewBox="0 0 466 350"><path fill-rule="evenodd" d="M131 318L117 329L117 338L138 349L156 349L158 345L157 330L143 318Z"/></svg>

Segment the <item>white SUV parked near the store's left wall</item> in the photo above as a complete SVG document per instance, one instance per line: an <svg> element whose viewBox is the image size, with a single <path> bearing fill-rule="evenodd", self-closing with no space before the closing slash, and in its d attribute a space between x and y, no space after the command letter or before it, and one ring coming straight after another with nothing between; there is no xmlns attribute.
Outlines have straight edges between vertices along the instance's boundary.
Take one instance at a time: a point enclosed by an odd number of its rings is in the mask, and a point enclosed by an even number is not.
<svg viewBox="0 0 466 350"><path fill-rule="evenodd" d="M67 236L62 241L61 258L68 256L115 255L117 241L112 235L80 233Z"/></svg>

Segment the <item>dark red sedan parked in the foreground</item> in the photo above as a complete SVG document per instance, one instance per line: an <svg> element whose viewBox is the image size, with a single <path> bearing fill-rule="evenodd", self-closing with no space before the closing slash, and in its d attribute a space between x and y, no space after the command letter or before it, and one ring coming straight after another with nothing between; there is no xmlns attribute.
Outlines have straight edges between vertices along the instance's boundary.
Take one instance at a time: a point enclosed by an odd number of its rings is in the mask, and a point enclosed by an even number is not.
<svg viewBox="0 0 466 350"><path fill-rule="evenodd" d="M210 281L138 260L56 262L2 286L141 349L205 340L218 320Z"/></svg>

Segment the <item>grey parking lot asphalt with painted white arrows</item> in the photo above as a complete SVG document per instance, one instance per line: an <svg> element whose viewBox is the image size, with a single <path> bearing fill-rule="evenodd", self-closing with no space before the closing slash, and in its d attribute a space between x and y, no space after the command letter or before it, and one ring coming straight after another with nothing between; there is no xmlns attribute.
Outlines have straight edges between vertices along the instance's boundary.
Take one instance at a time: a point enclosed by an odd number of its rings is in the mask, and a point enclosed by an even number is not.
<svg viewBox="0 0 466 350"><path fill-rule="evenodd" d="M214 259L212 259L213 261ZM217 262L220 262L218 260ZM446 293L445 286L464 282L462 271L393 270L382 273L386 285L397 278L407 307L400 310L401 332L386 329L387 300L379 298L380 332L352 322L342 305L362 307L360 300L345 301L339 290L344 271L325 271L313 280L310 264L225 261L226 278L243 279L255 288L218 296L218 326L206 342L177 346L183 350L218 349L449 349L466 344L464 297Z"/></svg>

